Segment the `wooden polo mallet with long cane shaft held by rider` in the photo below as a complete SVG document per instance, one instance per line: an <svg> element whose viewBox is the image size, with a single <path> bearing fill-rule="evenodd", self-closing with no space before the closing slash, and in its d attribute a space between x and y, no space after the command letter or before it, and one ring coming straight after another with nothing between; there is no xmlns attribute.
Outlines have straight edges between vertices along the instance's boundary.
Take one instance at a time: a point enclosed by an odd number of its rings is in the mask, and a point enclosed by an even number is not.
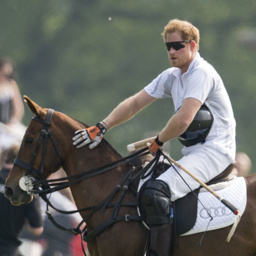
<svg viewBox="0 0 256 256"><path fill-rule="evenodd" d="M127 149L129 152L131 151L135 151L135 150L139 150L143 147L147 147L147 143L151 143L155 137L151 137L148 139L143 139L140 140L138 142L132 143L127 145ZM178 162L176 162L175 160L173 160L172 158L170 158L168 155L164 154L163 152L161 153L166 159L168 159L170 162L172 162L173 164L175 164L177 167L179 167L180 169L182 169L185 173L187 173L190 177L192 177L194 180L196 180L203 188L207 189L209 192L211 192L212 195L214 195L221 203L223 203L226 207L228 207L230 209L230 211L233 212L234 215L237 215L237 219L233 224L232 229L230 230L230 233L226 239L227 242L230 241L230 238L232 237L238 223L240 222L240 218L241 218L241 211L239 209L237 209L237 207L233 206L232 203L230 203L229 201L221 198L220 196L218 196L218 194L212 190L211 188L209 188L207 186L207 184L205 184L203 181L200 181L200 179L198 179L194 174L190 173L187 169L185 169L183 166L181 166Z"/></svg>

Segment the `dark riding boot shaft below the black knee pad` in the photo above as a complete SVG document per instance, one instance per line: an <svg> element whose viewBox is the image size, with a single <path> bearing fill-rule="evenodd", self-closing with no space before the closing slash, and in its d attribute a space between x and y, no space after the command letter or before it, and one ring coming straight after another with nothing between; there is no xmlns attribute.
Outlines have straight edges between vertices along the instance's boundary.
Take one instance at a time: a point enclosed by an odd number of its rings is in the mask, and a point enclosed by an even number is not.
<svg viewBox="0 0 256 256"><path fill-rule="evenodd" d="M150 256L170 256L173 224L151 228Z"/></svg>

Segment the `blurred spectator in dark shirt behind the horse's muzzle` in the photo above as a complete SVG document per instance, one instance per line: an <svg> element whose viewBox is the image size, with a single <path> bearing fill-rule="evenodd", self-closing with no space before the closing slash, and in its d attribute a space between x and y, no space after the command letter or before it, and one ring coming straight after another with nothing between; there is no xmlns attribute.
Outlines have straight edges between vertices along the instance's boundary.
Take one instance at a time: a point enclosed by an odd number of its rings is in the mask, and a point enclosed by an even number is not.
<svg viewBox="0 0 256 256"><path fill-rule="evenodd" d="M4 196L4 184L18 154L19 145L3 151L0 170L0 256L22 256L19 252L19 232L23 227L34 236L43 232L43 221L39 200L14 206ZM26 255L25 255L26 256Z"/></svg>

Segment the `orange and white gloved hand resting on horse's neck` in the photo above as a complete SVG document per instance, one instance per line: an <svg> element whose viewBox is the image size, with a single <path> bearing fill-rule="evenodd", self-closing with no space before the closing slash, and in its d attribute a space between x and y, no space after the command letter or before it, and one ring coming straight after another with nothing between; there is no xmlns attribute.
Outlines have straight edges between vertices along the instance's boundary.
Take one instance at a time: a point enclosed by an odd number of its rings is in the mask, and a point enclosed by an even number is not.
<svg viewBox="0 0 256 256"><path fill-rule="evenodd" d="M74 141L73 145L80 148L92 142L89 148L93 149L101 142L105 132L107 132L107 127L102 122L96 124L95 126L78 130L75 132L75 136L72 138Z"/></svg>

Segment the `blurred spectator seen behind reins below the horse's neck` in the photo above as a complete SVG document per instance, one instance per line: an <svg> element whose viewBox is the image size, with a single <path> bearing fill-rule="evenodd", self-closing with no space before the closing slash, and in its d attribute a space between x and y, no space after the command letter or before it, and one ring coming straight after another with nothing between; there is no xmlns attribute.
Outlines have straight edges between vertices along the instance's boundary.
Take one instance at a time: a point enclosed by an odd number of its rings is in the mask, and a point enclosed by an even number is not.
<svg viewBox="0 0 256 256"><path fill-rule="evenodd" d="M56 173L53 173L48 178L58 179L60 177L67 177L63 169L58 170ZM54 207L62 211L75 211L77 210L74 199L72 197L70 188L65 188L60 191L53 192L50 194L49 201L53 204ZM43 245L43 251L40 256L84 256L82 246L81 246L81 237L75 236L68 231L61 230L53 225L49 220L48 216L45 215L46 203L41 199L41 213L44 218L44 232L39 237L33 237L27 233L26 230L23 230L20 234L20 238L24 241L23 251L26 252L26 256L34 256L28 248L34 247L35 242L39 245ZM81 221L82 217L79 213L75 214L62 214L52 207L49 207L49 211L53 216L53 219L61 226L73 229ZM83 228L83 227L82 227ZM25 240L24 240L25 239ZM83 246L85 250L87 249L86 243L83 241ZM26 248L24 248L26 247ZM87 255L88 252L87 252Z"/></svg>

